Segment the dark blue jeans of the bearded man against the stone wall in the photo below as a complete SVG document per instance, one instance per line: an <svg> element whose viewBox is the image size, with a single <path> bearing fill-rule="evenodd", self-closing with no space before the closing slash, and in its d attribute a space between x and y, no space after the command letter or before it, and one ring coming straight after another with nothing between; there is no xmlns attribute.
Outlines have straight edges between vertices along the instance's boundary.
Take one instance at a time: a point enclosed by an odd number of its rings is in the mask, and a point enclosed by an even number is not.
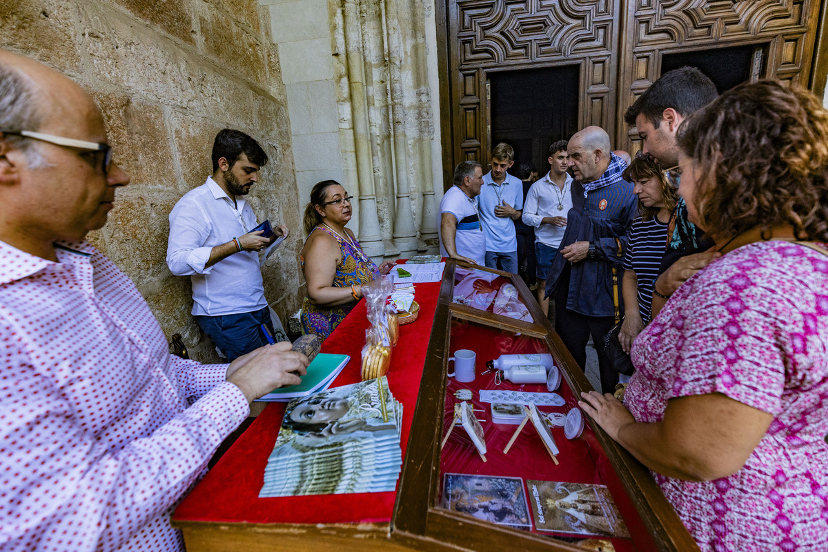
<svg viewBox="0 0 828 552"><path fill-rule="evenodd" d="M267 345L267 339L259 329L261 324L266 324L273 335L273 323L267 307L249 313L196 316L195 321L229 362Z"/></svg>

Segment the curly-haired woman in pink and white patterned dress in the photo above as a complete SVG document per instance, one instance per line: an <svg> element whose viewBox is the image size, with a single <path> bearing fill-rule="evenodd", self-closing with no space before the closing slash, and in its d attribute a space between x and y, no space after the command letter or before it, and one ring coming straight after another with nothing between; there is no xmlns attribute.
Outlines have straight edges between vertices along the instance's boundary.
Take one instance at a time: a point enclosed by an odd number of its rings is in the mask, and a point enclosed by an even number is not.
<svg viewBox="0 0 828 552"><path fill-rule="evenodd" d="M722 253L582 408L652 470L702 550L828 550L828 112L743 84L683 123L691 222ZM808 242L802 244L798 240Z"/></svg>

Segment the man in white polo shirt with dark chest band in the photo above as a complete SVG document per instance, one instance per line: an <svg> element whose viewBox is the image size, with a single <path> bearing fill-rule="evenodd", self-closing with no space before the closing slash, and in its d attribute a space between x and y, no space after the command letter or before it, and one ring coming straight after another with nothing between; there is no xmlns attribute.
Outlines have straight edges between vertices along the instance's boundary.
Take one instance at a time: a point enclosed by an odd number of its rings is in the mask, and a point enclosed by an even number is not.
<svg viewBox="0 0 828 552"><path fill-rule="evenodd" d="M483 185L483 168L477 161L463 161L455 167L452 183L440 201L440 255L482 265L486 242L477 196Z"/></svg>

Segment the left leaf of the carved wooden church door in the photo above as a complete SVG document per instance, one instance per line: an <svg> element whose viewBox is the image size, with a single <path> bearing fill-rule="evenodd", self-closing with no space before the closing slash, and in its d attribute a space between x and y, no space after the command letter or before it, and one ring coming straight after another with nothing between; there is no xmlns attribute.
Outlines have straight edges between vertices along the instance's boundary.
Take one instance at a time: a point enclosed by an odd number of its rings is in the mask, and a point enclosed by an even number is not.
<svg viewBox="0 0 828 552"><path fill-rule="evenodd" d="M615 125L620 0L449 0L451 166L489 158L487 80L495 71L578 68L580 127ZM445 96L444 96L445 97Z"/></svg>

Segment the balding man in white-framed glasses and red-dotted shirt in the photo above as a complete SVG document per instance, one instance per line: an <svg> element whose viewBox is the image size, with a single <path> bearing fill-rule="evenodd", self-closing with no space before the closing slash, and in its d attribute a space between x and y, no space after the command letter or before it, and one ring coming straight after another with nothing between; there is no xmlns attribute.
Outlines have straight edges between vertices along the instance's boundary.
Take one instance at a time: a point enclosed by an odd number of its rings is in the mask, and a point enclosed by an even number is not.
<svg viewBox="0 0 828 552"><path fill-rule="evenodd" d="M128 183L92 98L0 50L5 552L184 550L171 508L250 401L306 373L289 343L229 365L168 353L132 281L84 242Z"/></svg>

